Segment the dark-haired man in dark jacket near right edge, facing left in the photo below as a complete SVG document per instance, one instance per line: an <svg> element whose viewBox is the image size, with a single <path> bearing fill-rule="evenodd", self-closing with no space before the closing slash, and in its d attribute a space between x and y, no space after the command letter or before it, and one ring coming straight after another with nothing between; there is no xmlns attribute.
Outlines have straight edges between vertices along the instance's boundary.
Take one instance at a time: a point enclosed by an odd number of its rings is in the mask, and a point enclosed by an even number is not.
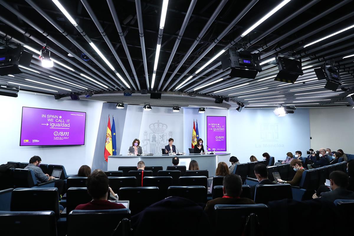
<svg viewBox="0 0 354 236"><path fill-rule="evenodd" d="M330 173L330 189L321 192L320 196L315 193L312 198L322 198L330 202L337 199L354 199L354 192L347 190L348 175L343 171L333 171Z"/></svg>

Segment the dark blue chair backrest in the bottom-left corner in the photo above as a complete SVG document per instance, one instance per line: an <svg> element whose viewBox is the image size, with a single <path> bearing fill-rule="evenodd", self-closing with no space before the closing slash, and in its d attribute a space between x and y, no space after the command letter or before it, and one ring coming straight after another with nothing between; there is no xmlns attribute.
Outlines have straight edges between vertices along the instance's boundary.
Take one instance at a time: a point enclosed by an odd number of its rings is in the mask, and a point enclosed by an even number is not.
<svg viewBox="0 0 354 236"><path fill-rule="evenodd" d="M33 222L40 227L33 229ZM57 236L57 220L53 211L0 211L1 235L48 235Z"/></svg>

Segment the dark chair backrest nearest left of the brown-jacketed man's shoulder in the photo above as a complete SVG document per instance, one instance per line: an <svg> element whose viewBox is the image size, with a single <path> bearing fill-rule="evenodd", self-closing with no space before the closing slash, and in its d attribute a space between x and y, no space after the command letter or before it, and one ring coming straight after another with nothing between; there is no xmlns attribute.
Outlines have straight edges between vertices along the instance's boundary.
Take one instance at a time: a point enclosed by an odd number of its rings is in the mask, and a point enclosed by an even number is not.
<svg viewBox="0 0 354 236"><path fill-rule="evenodd" d="M195 203L206 202L206 188L204 186L170 186L168 196L184 197Z"/></svg>

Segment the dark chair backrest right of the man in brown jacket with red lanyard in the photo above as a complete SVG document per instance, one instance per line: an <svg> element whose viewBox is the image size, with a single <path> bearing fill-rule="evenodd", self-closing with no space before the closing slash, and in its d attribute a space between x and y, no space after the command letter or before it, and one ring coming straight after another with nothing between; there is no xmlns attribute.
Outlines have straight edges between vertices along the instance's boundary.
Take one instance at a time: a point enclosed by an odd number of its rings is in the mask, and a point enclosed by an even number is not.
<svg viewBox="0 0 354 236"><path fill-rule="evenodd" d="M290 184L258 184L256 185L255 199L256 203L267 204L270 201L292 199L292 190Z"/></svg>

